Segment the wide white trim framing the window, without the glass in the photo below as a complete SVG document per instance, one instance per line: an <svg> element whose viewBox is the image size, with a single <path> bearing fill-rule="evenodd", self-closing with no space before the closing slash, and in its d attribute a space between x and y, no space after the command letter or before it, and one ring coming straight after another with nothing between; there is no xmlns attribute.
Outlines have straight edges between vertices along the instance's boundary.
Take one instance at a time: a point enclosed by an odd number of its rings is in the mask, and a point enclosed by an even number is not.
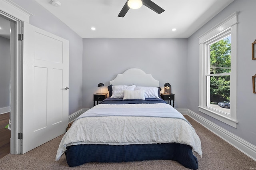
<svg viewBox="0 0 256 170"><path fill-rule="evenodd" d="M234 128L238 123L236 119L236 106L237 106L237 12L230 15L228 18L216 25L212 30L206 32L204 35L199 37L199 50L200 50L200 78L199 78L199 111L209 115L223 123L226 123ZM230 115L224 114L216 109L206 106L206 59L205 55L207 53L206 45L211 39L216 38L220 34L230 30L231 32L231 68L230 73Z"/></svg>

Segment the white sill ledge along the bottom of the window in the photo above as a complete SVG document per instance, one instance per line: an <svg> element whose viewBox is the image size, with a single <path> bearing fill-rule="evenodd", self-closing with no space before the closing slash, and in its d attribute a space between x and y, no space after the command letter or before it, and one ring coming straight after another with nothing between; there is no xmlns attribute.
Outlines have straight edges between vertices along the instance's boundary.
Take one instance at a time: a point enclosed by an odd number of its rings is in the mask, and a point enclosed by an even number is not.
<svg viewBox="0 0 256 170"><path fill-rule="evenodd" d="M214 111L212 111L211 109L208 109L208 108L205 108L205 107L201 107L201 106L198 106L199 108L199 111L210 116L210 117L213 117L223 123L226 123L227 125L230 125L234 128L236 128L236 124L238 123L238 121L230 118L230 117L226 117L226 116L223 116L223 115L220 115Z"/></svg>

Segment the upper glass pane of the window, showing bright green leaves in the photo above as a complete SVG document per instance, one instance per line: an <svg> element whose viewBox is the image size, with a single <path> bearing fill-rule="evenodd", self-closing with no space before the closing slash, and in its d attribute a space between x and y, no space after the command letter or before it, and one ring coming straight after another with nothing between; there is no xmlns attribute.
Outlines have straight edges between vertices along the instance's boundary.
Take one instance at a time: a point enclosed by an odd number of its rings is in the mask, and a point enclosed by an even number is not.
<svg viewBox="0 0 256 170"><path fill-rule="evenodd" d="M231 72L231 36L210 45L210 74Z"/></svg>

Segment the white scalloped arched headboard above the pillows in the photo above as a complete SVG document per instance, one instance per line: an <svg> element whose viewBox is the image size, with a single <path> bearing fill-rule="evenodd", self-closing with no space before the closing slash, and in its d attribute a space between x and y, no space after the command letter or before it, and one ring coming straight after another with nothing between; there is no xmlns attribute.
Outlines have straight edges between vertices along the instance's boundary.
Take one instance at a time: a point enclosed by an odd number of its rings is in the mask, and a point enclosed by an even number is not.
<svg viewBox="0 0 256 170"><path fill-rule="evenodd" d="M114 80L111 80L110 85L136 85L159 87L159 81L154 79L151 74L146 74L141 69L128 69L122 74L118 74Z"/></svg>

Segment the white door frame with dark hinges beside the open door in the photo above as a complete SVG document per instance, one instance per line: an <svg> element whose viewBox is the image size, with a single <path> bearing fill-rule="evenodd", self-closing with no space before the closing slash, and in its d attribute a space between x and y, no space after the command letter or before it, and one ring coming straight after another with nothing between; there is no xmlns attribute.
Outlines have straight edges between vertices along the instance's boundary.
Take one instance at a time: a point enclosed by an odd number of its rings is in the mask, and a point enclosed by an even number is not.
<svg viewBox="0 0 256 170"><path fill-rule="evenodd" d="M21 73L22 59L20 55L21 43L18 42L18 34L20 34L19 20L0 11L1 17L11 22L10 32L10 120L11 120L11 138L10 153L20 153L20 141L18 140L18 132L20 131L20 115L21 115Z"/></svg>

